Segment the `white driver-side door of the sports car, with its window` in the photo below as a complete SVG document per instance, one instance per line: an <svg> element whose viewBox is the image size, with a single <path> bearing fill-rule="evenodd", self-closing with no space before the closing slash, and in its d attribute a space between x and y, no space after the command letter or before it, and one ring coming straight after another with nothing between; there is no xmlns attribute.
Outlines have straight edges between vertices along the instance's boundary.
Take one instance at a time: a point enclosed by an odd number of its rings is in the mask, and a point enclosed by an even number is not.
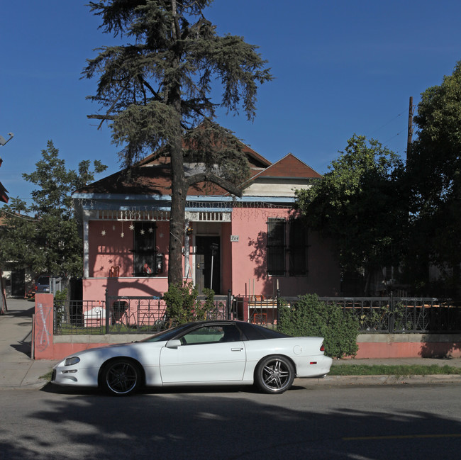
<svg viewBox="0 0 461 460"><path fill-rule="evenodd" d="M203 325L179 337L177 348L163 347L163 383L240 381L245 371L245 344L235 325Z"/></svg>

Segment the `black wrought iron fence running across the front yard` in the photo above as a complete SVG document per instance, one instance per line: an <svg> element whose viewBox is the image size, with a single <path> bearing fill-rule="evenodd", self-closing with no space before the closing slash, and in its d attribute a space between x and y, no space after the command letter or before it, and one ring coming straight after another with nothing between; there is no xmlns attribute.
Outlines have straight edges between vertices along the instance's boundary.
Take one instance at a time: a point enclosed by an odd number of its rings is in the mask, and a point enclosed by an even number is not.
<svg viewBox="0 0 461 460"><path fill-rule="evenodd" d="M295 306L299 298L262 296L215 298L206 319L238 319L276 327L279 303ZM360 332L460 333L461 303L437 298L321 297L345 314L355 315ZM204 304L198 299L198 304ZM106 305L108 308L106 309ZM107 314L106 314L107 313ZM107 296L106 301L55 301L55 335L155 333L170 327L165 301L155 297Z"/></svg>

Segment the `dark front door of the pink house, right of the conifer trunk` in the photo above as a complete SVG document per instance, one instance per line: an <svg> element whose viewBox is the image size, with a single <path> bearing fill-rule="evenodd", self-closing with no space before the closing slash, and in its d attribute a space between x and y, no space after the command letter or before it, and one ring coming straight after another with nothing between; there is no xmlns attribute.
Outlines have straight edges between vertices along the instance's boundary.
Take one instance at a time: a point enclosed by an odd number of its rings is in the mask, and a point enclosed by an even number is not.
<svg viewBox="0 0 461 460"><path fill-rule="evenodd" d="M218 236L195 237L195 280L199 293L211 288L221 293L221 240Z"/></svg>

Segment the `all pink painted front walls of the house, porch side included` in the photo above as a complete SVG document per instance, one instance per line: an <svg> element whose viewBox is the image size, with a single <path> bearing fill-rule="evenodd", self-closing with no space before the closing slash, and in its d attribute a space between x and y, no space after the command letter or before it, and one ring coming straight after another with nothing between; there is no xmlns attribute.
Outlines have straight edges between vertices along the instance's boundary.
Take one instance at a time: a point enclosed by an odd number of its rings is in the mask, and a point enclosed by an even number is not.
<svg viewBox="0 0 461 460"><path fill-rule="evenodd" d="M289 218L289 208L237 208L232 222L221 223L221 292L274 296L277 284L284 296L317 293L334 296L340 291L340 271L331 245L316 234L309 235L306 276L267 275L267 220ZM145 222L146 231L154 223ZM157 250L165 254L162 276L133 277L133 230L130 222L89 222L89 278L84 279L84 300L111 296L161 296L167 291L169 223L156 223ZM201 225L206 225L202 223ZM123 237L122 237L123 234ZM230 236L238 237L231 242ZM191 254L191 269L194 270ZM111 267L119 267L118 278L109 278Z"/></svg>

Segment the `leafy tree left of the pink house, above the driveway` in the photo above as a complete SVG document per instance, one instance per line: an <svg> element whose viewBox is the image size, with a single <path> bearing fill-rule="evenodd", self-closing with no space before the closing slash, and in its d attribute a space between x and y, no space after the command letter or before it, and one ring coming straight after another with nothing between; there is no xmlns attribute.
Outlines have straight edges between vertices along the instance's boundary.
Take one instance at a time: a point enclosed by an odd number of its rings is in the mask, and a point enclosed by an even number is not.
<svg viewBox="0 0 461 460"><path fill-rule="evenodd" d="M94 181L94 174L106 166L96 160L91 171L90 162L85 160L79 163L78 171L68 170L57 148L48 141L35 167L33 173L23 174L26 181L38 186L31 193L33 204L28 207L13 198L10 206L1 208L0 261L14 260L35 274L81 276L82 239L70 193Z"/></svg>

